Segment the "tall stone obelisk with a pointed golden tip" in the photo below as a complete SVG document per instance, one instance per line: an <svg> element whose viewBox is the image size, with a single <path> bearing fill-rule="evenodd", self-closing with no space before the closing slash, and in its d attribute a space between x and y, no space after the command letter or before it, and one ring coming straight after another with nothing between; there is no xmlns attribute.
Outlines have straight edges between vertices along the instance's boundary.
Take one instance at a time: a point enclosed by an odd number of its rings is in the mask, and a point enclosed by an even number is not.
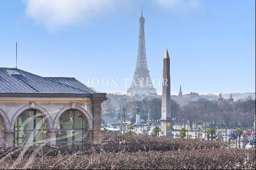
<svg viewBox="0 0 256 170"><path fill-rule="evenodd" d="M160 119L161 131L163 131L163 136L173 138L171 123L170 57L167 49L163 58L162 78L162 117Z"/></svg>

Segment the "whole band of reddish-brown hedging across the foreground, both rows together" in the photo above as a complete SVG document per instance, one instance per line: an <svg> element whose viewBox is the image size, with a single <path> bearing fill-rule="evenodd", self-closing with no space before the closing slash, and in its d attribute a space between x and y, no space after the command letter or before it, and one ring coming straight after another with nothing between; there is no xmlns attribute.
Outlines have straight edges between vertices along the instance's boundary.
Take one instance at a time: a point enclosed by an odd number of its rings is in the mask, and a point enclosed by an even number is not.
<svg viewBox="0 0 256 170"><path fill-rule="evenodd" d="M255 149L232 143L102 135L100 145L0 148L0 169L255 169Z"/></svg>

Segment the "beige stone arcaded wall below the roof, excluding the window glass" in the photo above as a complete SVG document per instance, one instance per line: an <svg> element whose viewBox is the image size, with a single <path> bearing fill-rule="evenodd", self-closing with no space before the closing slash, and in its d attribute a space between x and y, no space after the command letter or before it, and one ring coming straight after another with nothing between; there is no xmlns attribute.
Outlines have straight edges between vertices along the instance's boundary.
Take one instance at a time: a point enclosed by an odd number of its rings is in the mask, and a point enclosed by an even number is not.
<svg viewBox="0 0 256 170"><path fill-rule="evenodd" d="M88 123L89 143L100 144L101 103L106 100L106 93L86 94L87 97L71 96L7 97L0 94L0 147L13 146L15 121L20 113L28 109L40 111L47 119L47 132L50 134L47 144L56 144L57 120L69 109L79 111Z"/></svg>

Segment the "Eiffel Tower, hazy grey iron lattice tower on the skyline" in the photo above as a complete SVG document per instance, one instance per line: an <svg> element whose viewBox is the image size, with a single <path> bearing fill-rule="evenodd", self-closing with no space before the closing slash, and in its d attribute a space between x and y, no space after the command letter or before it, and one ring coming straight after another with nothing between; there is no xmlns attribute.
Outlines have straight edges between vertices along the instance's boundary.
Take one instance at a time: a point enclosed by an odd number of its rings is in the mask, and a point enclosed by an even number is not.
<svg viewBox="0 0 256 170"><path fill-rule="evenodd" d="M145 32L144 32L145 18L143 17L141 8L140 17L140 32L139 32L139 45L137 63L134 72L132 85L128 88L128 95L156 95L156 89L154 88L149 76L146 47L145 47Z"/></svg>

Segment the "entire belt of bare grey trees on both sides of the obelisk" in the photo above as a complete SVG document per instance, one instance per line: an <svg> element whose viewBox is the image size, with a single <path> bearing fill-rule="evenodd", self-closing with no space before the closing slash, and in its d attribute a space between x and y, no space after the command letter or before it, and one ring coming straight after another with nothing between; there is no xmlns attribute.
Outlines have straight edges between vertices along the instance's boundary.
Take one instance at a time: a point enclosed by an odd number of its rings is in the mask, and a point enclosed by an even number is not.
<svg viewBox="0 0 256 170"><path fill-rule="evenodd" d="M184 124L192 127L208 126L221 128L251 127L255 116L255 99L248 97L230 103L228 100L218 102L200 98L191 100L183 105L171 100L171 115L175 124ZM107 100L102 105L102 119L135 123L136 114L141 115L142 124L160 123L161 98L135 100L123 102L119 108Z"/></svg>

